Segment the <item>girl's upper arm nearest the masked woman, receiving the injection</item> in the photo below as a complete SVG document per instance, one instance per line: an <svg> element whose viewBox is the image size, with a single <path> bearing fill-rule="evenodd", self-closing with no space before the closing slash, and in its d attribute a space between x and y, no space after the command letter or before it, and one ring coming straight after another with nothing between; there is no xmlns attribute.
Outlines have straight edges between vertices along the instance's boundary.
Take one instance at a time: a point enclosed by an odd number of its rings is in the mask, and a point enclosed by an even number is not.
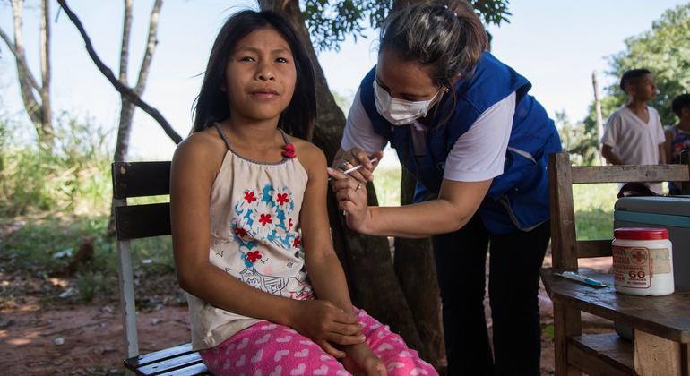
<svg viewBox="0 0 690 376"><path fill-rule="evenodd" d="M302 240L306 255L332 250L330 225L326 209L328 173L323 151L312 144L304 143L299 161L306 168L308 182L302 201L299 220L302 227Z"/></svg>

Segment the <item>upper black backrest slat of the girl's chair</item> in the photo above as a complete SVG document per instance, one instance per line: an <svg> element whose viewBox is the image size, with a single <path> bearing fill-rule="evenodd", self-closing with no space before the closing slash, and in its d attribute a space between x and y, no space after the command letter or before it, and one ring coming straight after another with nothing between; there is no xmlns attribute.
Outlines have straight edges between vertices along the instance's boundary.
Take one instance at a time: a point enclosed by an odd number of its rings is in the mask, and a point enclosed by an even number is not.
<svg viewBox="0 0 690 376"><path fill-rule="evenodd" d="M170 162L115 162L112 165L113 196L156 196L170 192Z"/></svg>

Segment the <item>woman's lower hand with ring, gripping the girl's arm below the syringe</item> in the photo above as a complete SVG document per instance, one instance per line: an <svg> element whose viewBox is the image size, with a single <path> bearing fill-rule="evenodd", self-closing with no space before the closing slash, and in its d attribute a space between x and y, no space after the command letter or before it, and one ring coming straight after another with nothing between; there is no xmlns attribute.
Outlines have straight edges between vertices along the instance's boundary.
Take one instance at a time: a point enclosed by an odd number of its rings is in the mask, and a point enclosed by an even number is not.
<svg viewBox="0 0 690 376"><path fill-rule="evenodd" d="M333 177L331 186L338 200L338 208L346 215L348 227L358 233L367 234L371 212L367 205L367 184L329 168L328 175Z"/></svg>

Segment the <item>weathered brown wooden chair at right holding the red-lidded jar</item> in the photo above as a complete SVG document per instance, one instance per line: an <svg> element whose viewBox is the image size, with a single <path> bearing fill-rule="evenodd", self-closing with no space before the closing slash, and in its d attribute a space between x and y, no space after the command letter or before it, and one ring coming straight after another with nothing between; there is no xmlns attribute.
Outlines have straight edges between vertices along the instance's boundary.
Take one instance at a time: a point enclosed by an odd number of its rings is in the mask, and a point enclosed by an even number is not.
<svg viewBox="0 0 690 376"><path fill-rule="evenodd" d="M684 182L686 165L571 167L567 153L549 160L551 252L553 268L541 278L554 303L556 375L688 375L690 292L667 296L617 294L610 274L580 272L608 285L597 288L553 275L578 270L578 259L611 256L611 239L578 241L575 234L573 184ZM581 312L615 320L634 330L634 343L616 333L582 334Z"/></svg>

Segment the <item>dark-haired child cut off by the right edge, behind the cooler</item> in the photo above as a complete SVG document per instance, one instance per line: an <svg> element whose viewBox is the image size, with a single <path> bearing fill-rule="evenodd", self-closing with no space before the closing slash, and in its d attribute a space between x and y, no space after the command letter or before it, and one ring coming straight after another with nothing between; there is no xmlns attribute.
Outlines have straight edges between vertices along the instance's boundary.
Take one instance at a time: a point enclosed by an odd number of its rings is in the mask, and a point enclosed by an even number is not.
<svg viewBox="0 0 690 376"><path fill-rule="evenodd" d="M671 109L678 116L678 124L666 130L666 160L680 163L680 152L690 150L690 94L673 98ZM680 184L668 182L668 193L680 194Z"/></svg>

